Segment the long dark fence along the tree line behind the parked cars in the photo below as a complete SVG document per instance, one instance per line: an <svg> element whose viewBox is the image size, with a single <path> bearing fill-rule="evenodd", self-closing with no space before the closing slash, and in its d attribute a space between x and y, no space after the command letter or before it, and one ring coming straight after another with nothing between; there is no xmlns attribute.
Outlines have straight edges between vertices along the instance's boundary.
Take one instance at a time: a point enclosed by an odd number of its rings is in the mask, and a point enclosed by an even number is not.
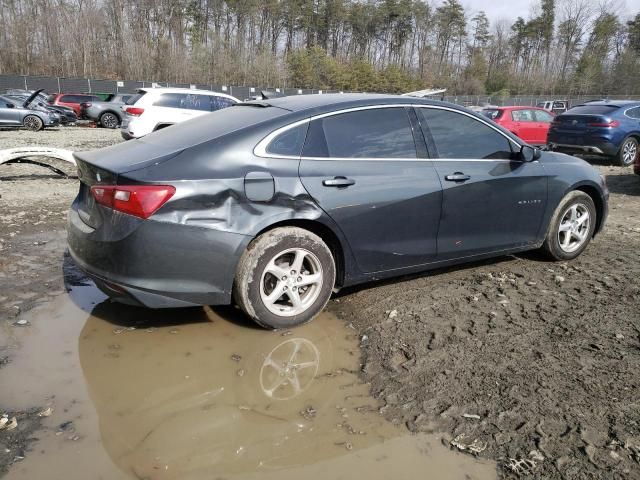
<svg viewBox="0 0 640 480"><path fill-rule="evenodd" d="M189 83L167 83L167 82L135 82L131 80L98 80L89 78L64 78L45 77L31 75L0 75L0 92L9 89L37 90L45 89L48 93L134 93L138 88L144 87L177 87L177 88L197 88L202 90L212 90L214 92L227 93L234 97L245 100L254 95L259 95L261 91L274 92L281 95L302 95L310 93L342 93L338 90L313 90L300 88L275 88L275 87L251 87L216 84L189 84ZM610 100L631 99L629 96L606 96L606 95L547 95L547 96L513 96L513 97L491 97L487 95L445 95L443 100L464 106L484 106L484 105L521 105L535 106L546 100L568 100L569 105L577 105L587 100L599 100L608 98Z"/></svg>

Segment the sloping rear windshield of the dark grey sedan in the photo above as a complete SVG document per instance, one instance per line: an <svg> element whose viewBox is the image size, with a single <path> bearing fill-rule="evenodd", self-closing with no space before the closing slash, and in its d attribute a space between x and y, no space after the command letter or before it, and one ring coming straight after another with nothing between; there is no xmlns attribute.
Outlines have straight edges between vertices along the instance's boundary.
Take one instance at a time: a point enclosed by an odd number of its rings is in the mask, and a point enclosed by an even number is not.
<svg viewBox="0 0 640 480"><path fill-rule="evenodd" d="M150 133L139 141L171 149L186 148L287 113L290 112L282 108L255 107L239 103Z"/></svg>

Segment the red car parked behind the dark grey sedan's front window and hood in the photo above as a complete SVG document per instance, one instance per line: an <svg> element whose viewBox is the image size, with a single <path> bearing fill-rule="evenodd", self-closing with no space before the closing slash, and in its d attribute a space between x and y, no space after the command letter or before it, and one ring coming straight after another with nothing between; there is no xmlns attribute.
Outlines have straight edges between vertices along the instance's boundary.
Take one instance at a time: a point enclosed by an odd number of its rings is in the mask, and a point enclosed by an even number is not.
<svg viewBox="0 0 640 480"><path fill-rule="evenodd" d="M538 107L488 107L483 115L530 145L546 145L554 115Z"/></svg>

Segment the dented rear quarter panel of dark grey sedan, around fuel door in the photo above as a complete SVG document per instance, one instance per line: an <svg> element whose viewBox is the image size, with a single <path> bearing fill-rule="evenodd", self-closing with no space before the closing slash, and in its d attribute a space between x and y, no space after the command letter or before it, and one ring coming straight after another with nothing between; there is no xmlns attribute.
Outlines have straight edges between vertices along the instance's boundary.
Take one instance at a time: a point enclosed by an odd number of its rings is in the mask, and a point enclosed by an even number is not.
<svg viewBox="0 0 640 480"><path fill-rule="evenodd" d="M300 161L253 154L254 146L278 126L236 132L194 146L160 164L128 172L119 183L166 182L176 187L171 200L154 214L155 221L245 235L246 242L236 252L234 271L228 272L232 277L242 251L256 235L274 224L296 220L331 229L342 244L349 271L353 263L347 243L302 185ZM273 176L274 194L269 200L252 201L246 195L245 177L256 172Z"/></svg>

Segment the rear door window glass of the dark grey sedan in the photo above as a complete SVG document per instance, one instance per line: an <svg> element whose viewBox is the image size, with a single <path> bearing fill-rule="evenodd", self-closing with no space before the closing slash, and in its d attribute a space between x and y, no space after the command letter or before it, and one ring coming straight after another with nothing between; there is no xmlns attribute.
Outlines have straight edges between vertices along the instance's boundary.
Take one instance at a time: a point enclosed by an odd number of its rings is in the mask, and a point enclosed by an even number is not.
<svg viewBox="0 0 640 480"><path fill-rule="evenodd" d="M304 155L416 158L416 146L404 108L376 108L315 120Z"/></svg>

